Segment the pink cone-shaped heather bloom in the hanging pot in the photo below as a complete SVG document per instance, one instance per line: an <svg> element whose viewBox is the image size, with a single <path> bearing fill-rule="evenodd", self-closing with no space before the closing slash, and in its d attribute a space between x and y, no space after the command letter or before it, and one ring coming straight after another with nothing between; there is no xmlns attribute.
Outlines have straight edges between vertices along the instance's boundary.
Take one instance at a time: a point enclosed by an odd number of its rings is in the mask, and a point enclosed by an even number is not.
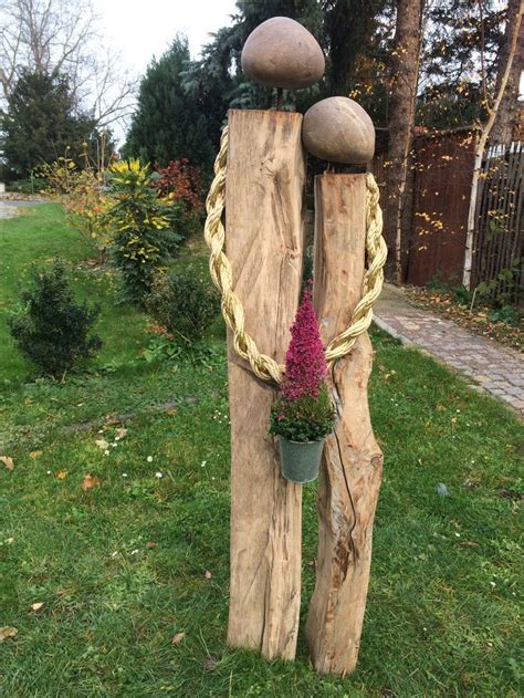
<svg viewBox="0 0 524 698"><path fill-rule="evenodd" d="M291 327L282 396L289 402L295 402L306 395L317 399L326 375L326 357L318 333L318 320L313 308L310 283Z"/></svg>

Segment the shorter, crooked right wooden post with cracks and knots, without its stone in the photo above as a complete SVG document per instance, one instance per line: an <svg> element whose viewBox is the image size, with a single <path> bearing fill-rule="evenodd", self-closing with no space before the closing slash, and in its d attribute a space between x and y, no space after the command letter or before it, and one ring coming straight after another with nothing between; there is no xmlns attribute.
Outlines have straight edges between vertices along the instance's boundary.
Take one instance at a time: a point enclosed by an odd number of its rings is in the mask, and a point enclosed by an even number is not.
<svg viewBox="0 0 524 698"><path fill-rule="evenodd" d="M315 178L315 305L325 344L350 321L365 262L365 175ZM367 381L373 350L361 335L332 372L336 436L326 439L318 482L318 556L306 635L315 669L355 669L366 607L382 455L373 435Z"/></svg>

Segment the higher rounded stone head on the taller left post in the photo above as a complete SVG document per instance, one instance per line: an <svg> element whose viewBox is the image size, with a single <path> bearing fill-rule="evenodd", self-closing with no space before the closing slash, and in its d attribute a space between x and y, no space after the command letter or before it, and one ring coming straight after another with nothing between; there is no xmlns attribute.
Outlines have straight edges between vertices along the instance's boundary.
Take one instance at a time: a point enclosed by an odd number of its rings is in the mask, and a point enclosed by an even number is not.
<svg viewBox="0 0 524 698"><path fill-rule="evenodd" d="M242 70L268 87L304 90L324 75L326 62L316 39L289 17L273 17L248 37Z"/></svg>

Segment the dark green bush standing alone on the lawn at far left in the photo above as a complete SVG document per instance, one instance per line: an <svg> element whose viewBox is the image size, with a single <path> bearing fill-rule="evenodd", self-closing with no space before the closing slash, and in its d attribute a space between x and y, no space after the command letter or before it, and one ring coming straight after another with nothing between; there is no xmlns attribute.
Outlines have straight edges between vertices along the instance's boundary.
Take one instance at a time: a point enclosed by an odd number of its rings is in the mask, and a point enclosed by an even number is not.
<svg viewBox="0 0 524 698"><path fill-rule="evenodd" d="M98 336L90 336L99 308L76 302L61 262L50 271L33 269L32 279L33 285L21 293L18 312L8 320L9 330L42 374L63 378L102 347Z"/></svg>

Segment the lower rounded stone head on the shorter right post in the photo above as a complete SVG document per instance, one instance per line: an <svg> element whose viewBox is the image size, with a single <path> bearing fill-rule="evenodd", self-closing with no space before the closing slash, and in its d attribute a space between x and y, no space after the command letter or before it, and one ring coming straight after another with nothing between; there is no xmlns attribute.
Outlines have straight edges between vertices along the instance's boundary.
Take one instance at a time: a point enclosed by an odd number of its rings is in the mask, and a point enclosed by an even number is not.
<svg viewBox="0 0 524 698"><path fill-rule="evenodd" d="M365 165L375 153L375 127L349 97L328 97L305 113L302 140L308 153L323 160Z"/></svg>

